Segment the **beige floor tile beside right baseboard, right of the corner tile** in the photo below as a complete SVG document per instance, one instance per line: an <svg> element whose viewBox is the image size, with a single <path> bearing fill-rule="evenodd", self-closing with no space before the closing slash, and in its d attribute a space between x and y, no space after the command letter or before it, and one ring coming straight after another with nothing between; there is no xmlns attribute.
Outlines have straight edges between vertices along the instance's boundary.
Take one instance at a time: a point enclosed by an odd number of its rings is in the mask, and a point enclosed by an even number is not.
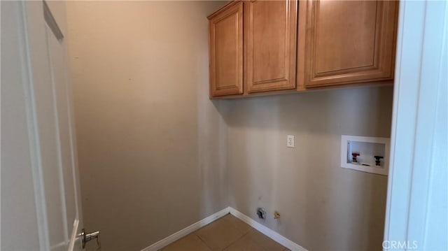
<svg viewBox="0 0 448 251"><path fill-rule="evenodd" d="M235 243L232 243L225 251L237 250L266 250L266 251L283 251L285 247L272 241L267 236L261 234L255 229L251 230Z"/></svg>

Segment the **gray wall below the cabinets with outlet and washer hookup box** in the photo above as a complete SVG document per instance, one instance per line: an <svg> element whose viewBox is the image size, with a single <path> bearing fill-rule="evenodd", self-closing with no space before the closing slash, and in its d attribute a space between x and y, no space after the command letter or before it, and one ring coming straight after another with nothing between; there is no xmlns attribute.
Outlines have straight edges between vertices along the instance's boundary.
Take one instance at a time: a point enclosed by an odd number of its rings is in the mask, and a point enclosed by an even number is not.
<svg viewBox="0 0 448 251"><path fill-rule="evenodd" d="M228 101L230 206L308 250L381 250L387 177L340 167L341 134L389 137L392 87ZM286 148L286 135L295 148ZM278 210L281 219L273 219Z"/></svg>

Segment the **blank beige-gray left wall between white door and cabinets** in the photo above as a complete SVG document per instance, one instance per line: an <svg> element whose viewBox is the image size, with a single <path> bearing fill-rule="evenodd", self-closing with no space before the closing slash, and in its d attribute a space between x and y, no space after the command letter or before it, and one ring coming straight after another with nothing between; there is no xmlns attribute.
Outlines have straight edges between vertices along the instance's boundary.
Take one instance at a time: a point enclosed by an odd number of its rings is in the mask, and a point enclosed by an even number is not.
<svg viewBox="0 0 448 251"><path fill-rule="evenodd" d="M84 226L103 250L228 206L226 126L208 98L206 17L222 4L67 2Z"/></svg>

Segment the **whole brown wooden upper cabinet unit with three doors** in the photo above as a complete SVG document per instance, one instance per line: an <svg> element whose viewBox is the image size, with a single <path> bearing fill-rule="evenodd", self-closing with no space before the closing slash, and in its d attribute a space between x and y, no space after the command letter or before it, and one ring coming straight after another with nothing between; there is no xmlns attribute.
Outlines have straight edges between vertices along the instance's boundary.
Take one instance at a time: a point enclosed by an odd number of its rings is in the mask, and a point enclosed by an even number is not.
<svg viewBox="0 0 448 251"><path fill-rule="evenodd" d="M392 80L397 20L398 1L231 1L209 16L210 97Z"/></svg>

